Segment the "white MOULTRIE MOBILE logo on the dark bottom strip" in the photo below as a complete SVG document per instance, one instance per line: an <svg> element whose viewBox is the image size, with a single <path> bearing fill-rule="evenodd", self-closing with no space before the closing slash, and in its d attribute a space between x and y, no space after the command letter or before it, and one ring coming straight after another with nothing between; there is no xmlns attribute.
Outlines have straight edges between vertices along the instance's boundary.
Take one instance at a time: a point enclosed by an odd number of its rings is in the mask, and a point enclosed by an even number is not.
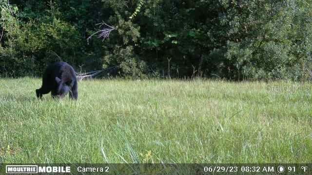
<svg viewBox="0 0 312 175"><path fill-rule="evenodd" d="M6 165L7 174L70 173L70 166Z"/></svg>

